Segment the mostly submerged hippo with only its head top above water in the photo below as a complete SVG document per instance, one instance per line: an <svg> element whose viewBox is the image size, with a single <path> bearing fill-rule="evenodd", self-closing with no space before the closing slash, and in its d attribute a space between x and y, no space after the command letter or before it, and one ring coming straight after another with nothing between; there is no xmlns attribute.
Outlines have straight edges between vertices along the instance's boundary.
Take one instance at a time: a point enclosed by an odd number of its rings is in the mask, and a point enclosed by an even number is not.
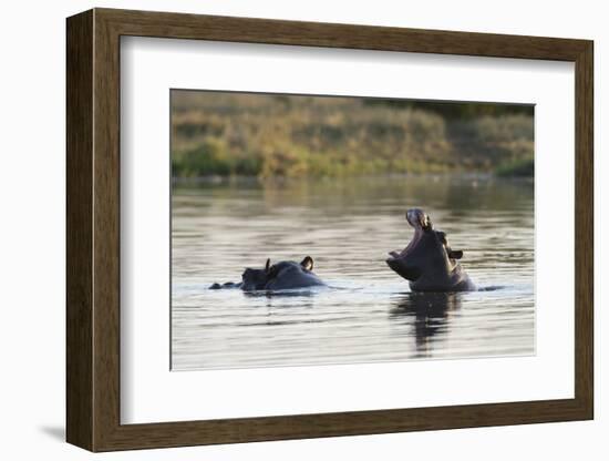
<svg viewBox="0 0 609 461"><path fill-rule="evenodd" d="M239 283L214 284L210 289L240 288L244 291L259 290L282 290L326 286L321 279L312 273L313 258L304 257L300 263L282 260L280 263L267 264L264 269L246 268Z"/></svg>

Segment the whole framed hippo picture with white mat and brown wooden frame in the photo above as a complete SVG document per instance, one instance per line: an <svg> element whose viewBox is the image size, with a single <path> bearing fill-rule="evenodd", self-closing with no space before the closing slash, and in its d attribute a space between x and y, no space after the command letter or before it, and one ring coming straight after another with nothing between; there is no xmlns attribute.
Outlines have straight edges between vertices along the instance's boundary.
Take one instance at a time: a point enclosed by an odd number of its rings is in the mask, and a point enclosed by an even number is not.
<svg viewBox="0 0 609 461"><path fill-rule="evenodd" d="M66 439L592 419L592 42L68 19Z"/></svg>

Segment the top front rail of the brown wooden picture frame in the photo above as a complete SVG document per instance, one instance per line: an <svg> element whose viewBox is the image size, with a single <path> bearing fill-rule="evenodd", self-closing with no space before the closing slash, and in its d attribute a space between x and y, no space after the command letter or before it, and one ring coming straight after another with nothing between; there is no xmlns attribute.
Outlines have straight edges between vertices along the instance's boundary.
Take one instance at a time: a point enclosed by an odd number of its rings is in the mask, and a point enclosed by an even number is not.
<svg viewBox="0 0 609 461"><path fill-rule="evenodd" d="M575 61L584 40L96 9L122 35Z"/></svg>

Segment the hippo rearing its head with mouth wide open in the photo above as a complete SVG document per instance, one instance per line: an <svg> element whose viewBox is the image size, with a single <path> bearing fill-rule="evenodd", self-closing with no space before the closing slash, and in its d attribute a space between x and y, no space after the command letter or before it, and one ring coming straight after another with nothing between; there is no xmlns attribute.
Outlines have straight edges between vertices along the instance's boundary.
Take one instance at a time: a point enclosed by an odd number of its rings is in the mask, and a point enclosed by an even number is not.
<svg viewBox="0 0 609 461"><path fill-rule="evenodd" d="M414 236L402 252L390 252L389 267L409 280L413 291L475 290L475 285L457 262L463 252L448 246L446 234L434 230L422 209L409 209L406 221L414 227Z"/></svg>

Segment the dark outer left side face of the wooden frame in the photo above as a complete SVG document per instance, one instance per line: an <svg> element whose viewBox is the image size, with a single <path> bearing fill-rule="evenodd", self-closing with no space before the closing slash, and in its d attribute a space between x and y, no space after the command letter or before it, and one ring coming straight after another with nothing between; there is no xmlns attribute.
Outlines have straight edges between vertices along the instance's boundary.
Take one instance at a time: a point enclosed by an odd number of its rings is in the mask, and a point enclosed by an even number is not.
<svg viewBox="0 0 609 461"><path fill-rule="evenodd" d="M93 13L68 21L66 49L66 430L93 449Z"/></svg>

